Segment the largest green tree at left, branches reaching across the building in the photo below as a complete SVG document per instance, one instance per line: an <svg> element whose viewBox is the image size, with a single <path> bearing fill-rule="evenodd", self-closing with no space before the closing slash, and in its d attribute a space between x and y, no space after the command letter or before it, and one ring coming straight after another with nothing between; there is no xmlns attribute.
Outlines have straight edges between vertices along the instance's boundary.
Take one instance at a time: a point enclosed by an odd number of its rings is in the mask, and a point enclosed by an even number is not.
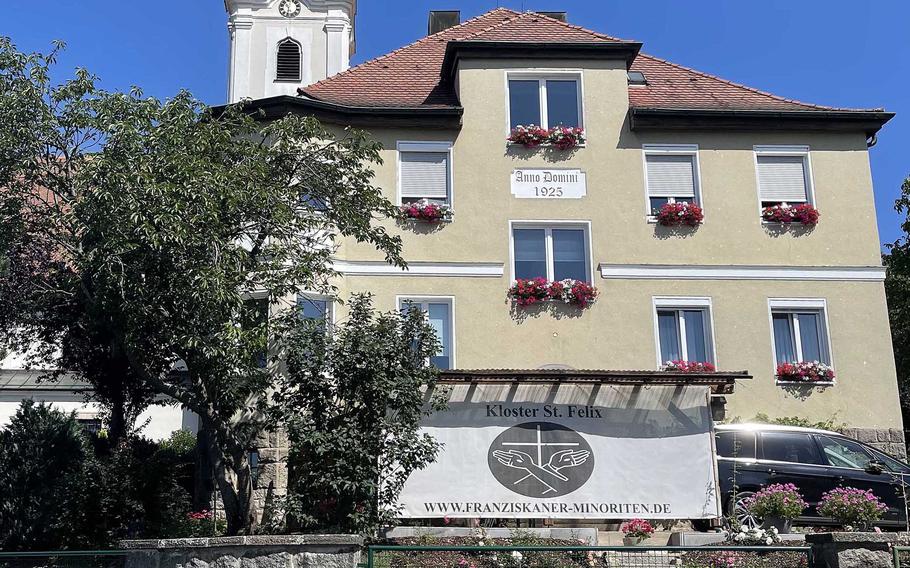
<svg viewBox="0 0 910 568"><path fill-rule="evenodd" d="M342 237L404 265L377 223L396 214L372 182L380 147L185 92L104 92L84 71L54 84L53 59L0 40L0 334L38 341L37 362L105 402L198 414L228 531L249 532L248 452L280 368L263 357L278 329L250 300L275 314L327 289Z"/></svg>

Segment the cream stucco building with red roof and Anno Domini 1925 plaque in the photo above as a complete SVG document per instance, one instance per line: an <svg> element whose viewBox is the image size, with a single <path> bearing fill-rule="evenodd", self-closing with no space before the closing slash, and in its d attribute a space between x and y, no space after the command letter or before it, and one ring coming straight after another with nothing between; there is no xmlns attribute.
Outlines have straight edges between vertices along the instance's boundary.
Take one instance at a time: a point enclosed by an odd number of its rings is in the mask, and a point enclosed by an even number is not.
<svg viewBox="0 0 910 568"><path fill-rule="evenodd" d="M368 291L383 309L421 305L444 368L708 361L753 377L727 397L728 417L833 418L903 452L869 167L891 114L784 99L560 20L497 9L452 25L457 15L432 14L435 35L297 95L250 92L270 116L365 128L384 147L376 183L389 199L454 212L389 224L407 271L340 243L339 299ZM507 143L531 122L583 127L585 141ZM568 182L516 183L518 172ZM703 222L660 225L667 202L696 203ZM820 220L762 218L781 203L809 204ZM507 298L535 276L593 283L599 299L579 309ZM344 316L343 303L315 300L315 311ZM776 374L814 360L834 380Z"/></svg>

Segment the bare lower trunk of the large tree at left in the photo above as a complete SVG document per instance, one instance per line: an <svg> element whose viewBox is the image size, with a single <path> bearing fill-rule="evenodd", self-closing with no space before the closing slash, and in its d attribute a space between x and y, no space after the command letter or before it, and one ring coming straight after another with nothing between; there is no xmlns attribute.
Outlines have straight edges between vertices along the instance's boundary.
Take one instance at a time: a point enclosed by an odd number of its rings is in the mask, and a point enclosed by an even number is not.
<svg viewBox="0 0 910 568"><path fill-rule="evenodd" d="M222 438L229 434L220 433ZM215 467L215 483L221 494L224 514L227 519L227 534L252 534L257 525L256 506L253 503L253 476L247 450L233 440L216 440L207 436L208 460ZM234 447L222 452L219 448Z"/></svg>

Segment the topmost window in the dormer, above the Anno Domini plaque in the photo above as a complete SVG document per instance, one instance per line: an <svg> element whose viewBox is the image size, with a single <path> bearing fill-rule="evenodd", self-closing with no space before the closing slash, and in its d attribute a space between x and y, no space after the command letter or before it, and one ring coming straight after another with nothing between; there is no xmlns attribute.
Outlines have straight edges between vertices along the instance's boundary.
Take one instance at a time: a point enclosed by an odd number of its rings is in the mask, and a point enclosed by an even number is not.
<svg viewBox="0 0 910 568"><path fill-rule="evenodd" d="M509 77L509 128L582 126L578 75Z"/></svg>

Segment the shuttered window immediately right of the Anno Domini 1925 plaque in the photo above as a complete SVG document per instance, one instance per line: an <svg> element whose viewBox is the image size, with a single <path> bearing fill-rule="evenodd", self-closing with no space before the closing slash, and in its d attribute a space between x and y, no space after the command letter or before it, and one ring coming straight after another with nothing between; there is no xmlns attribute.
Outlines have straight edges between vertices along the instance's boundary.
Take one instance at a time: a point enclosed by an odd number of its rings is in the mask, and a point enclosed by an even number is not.
<svg viewBox="0 0 910 568"><path fill-rule="evenodd" d="M667 203L699 201L697 146L645 146L644 157L649 214Z"/></svg>

